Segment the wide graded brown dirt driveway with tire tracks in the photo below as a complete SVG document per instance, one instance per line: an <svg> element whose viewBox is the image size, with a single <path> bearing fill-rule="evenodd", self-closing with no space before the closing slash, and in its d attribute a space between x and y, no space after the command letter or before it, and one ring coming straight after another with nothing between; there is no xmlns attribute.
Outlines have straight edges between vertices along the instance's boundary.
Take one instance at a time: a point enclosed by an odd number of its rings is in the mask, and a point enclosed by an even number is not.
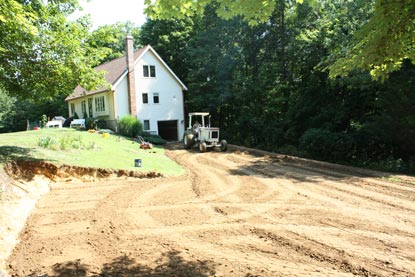
<svg viewBox="0 0 415 277"><path fill-rule="evenodd" d="M414 179L170 148L185 176L53 183L10 275L415 276Z"/></svg>

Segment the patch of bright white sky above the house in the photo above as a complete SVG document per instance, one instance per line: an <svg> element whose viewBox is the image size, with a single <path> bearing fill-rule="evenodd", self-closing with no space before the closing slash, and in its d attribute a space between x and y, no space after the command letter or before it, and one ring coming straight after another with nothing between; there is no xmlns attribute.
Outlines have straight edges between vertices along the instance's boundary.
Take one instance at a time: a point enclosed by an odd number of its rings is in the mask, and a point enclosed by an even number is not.
<svg viewBox="0 0 415 277"><path fill-rule="evenodd" d="M74 20L82 15L90 14L93 29L125 21L132 21L141 26L146 21L144 0L80 0L79 3L83 11L76 12L69 18Z"/></svg>

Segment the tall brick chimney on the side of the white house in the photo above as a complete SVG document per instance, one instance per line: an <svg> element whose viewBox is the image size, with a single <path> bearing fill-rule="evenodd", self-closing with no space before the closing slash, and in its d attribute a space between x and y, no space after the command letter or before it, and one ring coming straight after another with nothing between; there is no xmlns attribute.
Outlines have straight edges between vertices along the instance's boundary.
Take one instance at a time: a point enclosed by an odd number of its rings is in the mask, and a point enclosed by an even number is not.
<svg viewBox="0 0 415 277"><path fill-rule="evenodd" d="M133 37L125 38L125 49L127 52L127 80L128 80L128 109L132 116L137 116L136 92L135 92L135 73L134 73L134 46Z"/></svg>

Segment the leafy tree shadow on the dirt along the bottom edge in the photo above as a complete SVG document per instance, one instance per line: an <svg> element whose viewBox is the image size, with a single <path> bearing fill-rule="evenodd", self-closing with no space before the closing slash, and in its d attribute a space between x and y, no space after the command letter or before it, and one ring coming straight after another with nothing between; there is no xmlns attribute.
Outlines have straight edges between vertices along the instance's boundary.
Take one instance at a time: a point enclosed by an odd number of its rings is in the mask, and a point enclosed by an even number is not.
<svg viewBox="0 0 415 277"><path fill-rule="evenodd" d="M151 268L142 265L134 258L120 256L112 262L102 265L100 272L92 272L90 265L83 264L80 260L68 261L55 264L52 267L52 275L41 275L48 277L115 277L115 276L188 276L207 277L215 275L215 265L212 261L186 261L180 256L179 251L169 251L163 254L157 266ZM29 276L39 276L37 273Z"/></svg>

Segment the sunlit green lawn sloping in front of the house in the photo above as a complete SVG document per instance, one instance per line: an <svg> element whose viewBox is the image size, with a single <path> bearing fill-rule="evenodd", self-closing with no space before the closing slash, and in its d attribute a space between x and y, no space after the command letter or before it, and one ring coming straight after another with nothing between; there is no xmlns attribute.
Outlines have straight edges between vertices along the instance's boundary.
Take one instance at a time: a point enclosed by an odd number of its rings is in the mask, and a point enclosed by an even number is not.
<svg viewBox="0 0 415 277"><path fill-rule="evenodd" d="M50 140L55 143L45 143ZM39 141L52 147L39 146ZM109 135L104 138L102 134L67 128L0 134L0 164L12 159L45 160L57 165L157 171L169 176L185 172L164 154L162 147L143 150L137 142L124 137ZM142 167L134 166L135 159L142 159Z"/></svg>

